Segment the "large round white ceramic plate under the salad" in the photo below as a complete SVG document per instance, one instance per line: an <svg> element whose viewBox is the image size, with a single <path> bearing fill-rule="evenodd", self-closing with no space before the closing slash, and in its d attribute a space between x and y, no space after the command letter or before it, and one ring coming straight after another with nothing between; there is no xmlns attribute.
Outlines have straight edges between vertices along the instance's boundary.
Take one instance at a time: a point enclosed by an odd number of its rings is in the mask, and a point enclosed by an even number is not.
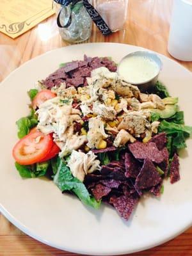
<svg viewBox="0 0 192 256"><path fill-rule="evenodd" d="M145 250L177 236L192 224L192 140L180 159L181 180L164 182L161 198L141 200L131 220L123 221L112 207L85 207L75 196L62 195L52 181L22 180L15 170L12 147L17 141L15 121L28 114L27 91L61 62L88 56L120 59L140 47L124 44L81 44L56 49L17 68L1 84L0 210L31 237L62 250L90 255L115 255ZM192 125L192 75L162 55L159 77L171 95L179 96L186 124Z"/></svg>

